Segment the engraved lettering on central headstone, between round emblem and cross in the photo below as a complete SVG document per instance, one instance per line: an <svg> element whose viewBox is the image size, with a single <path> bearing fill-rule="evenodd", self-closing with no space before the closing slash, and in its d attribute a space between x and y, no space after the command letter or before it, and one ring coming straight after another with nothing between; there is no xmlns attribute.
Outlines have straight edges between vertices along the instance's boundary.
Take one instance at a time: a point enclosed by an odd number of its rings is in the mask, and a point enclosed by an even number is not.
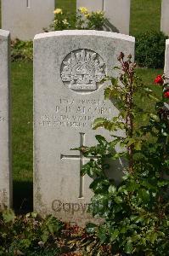
<svg viewBox="0 0 169 256"><path fill-rule="evenodd" d="M104 100L60 98L53 111L42 113L38 123L42 127L91 128L97 117L111 119L114 114Z"/></svg>

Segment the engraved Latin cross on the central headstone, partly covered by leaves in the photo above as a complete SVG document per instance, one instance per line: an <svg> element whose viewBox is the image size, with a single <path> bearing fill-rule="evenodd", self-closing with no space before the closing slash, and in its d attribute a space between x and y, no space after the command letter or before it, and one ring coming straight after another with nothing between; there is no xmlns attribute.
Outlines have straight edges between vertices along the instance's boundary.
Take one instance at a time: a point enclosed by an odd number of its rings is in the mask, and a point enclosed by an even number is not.
<svg viewBox="0 0 169 256"><path fill-rule="evenodd" d="M83 146L85 146L85 133L80 132L80 148L82 148ZM81 172L82 166L84 165L85 160L90 160L90 159L97 160L97 158L93 156L84 156L82 152L80 152L79 155L61 154L60 158L61 160L80 160L80 172ZM80 175L79 199L84 198L83 190L84 190L84 177Z"/></svg>

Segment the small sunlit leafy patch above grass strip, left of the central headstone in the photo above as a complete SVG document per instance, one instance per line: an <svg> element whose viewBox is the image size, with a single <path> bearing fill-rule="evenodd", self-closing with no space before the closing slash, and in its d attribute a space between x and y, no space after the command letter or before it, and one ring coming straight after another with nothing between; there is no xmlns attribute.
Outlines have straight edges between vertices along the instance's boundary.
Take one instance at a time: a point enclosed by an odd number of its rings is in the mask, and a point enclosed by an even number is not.
<svg viewBox="0 0 169 256"><path fill-rule="evenodd" d="M33 42L15 39L11 44L11 61L32 61Z"/></svg>

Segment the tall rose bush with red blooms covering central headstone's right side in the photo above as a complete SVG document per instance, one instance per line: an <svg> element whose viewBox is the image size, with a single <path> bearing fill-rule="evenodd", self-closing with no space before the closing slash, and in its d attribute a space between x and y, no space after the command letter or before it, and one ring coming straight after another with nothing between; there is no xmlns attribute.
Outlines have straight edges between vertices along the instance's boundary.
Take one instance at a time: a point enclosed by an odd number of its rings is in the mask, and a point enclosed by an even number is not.
<svg viewBox="0 0 169 256"><path fill-rule="evenodd" d="M118 61L119 77L105 79L110 86L104 96L114 102L119 115L93 124L93 129L103 127L114 138L108 142L97 135L96 146L79 148L93 158L82 166L82 175L93 179L89 211L103 218L99 226L88 224L87 231L110 246L110 255L165 256L169 252L169 87L165 75L157 76L155 84L161 86L162 95L158 99L138 78L131 55L126 59L121 53ZM153 113L140 107L146 96L155 102ZM138 119L146 120L139 129ZM125 131L126 137L118 136L117 130ZM124 150L116 153L116 145ZM116 183L106 173L116 171L108 162L118 158L126 159L128 166Z"/></svg>

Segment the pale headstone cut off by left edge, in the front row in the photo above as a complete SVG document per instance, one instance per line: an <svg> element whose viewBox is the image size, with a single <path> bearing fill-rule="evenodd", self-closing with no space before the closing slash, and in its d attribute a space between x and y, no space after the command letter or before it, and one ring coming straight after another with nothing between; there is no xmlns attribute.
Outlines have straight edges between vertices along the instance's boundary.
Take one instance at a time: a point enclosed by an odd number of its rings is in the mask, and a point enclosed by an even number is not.
<svg viewBox="0 0 169 256"><path fill-rule="evenodd" d="M9 32L0 30L0 210L12 205L9 47Z"/></svg>

